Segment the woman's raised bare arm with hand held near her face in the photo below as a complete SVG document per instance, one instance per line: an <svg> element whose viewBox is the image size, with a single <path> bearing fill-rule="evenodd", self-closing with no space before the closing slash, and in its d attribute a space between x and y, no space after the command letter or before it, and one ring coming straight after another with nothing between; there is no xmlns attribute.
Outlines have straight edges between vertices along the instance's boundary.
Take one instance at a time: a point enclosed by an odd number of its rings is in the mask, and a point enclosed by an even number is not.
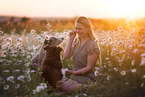
<svg viewBox="0 0 145 97"><path fill-rule="evenodd" d="M75 31L72 31L69 33L69 41L65 47L65 50L64 50L64 54L63 54L63 58L64 59L68 59L72 56L72 53L73 53L73 40L74 40L74 37L76 36L76 32Z"/></svg>

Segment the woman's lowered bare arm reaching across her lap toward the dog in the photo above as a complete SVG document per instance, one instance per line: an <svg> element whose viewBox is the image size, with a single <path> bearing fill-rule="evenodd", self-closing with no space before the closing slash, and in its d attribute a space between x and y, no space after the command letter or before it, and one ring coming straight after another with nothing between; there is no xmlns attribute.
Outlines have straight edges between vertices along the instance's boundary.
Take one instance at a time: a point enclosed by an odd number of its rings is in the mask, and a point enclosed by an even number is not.
<svg viewBox="0 0 145 97"><path fill-rule="evenodd" d="M68 75L71 75L71 74L83 75L83 74L86 74L86 73L92 71L95 64L96 64L97 57L98 57L97 53L93 53L93 54L89 55L87 58L87 66L86 67L84 67L80 70L77 70L77 71L68 70L68 71L66 71L66 74L68 74Z"/></svg>

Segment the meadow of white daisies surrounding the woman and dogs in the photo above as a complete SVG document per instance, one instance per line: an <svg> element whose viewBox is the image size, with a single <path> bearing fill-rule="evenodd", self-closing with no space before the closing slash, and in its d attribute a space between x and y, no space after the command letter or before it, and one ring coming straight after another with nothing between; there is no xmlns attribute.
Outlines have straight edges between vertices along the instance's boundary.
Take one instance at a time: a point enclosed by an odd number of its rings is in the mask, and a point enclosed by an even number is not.
<svg viewBox="0 0 145 97"><path fill-rule="evenodd" d="M95 84L71 94L47 86L30 68L30 59L45 38L63 37L60 46L65 48L68 33L0 31L0 97L145 97L145 30L125 31L121 26L117 30L95 30L101 51L101 64L94 69ZM63 54L61 59L64 68L71 69L72 60L63 59Z"/></svg>

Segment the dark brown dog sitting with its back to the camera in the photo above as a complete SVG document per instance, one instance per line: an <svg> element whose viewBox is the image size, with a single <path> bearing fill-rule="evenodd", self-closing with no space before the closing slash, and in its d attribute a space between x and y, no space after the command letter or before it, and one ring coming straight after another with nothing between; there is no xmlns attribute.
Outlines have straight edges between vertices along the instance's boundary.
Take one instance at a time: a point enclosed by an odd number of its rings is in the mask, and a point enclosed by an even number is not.
<svg viewBox="0 0 145 97"><path fill-rule="evenodd" d="M42 77L45 78L46 83L56 88L57 81L61 80L63 76L60 58L60 53L63 49L57 46L46 46L44 50L46 52L41 65Z"/></svg>

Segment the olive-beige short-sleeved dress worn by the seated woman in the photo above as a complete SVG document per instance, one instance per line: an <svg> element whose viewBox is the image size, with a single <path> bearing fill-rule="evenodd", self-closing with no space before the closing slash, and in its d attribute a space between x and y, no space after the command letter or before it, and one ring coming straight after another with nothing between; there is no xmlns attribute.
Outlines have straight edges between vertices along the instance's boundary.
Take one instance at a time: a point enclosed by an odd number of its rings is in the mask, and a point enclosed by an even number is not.
<svg viewBox="0 0 145 97"><path fill-rule="evenodd" d="M100 50L97 46L97 43L93 40L86 40L80 47L79 42L76 43L73 50L73 71L77 71L87 66L87 56L92 53L97 53L99 56ZM95 81L94 70L91 72L78 76L72 75L72 80L77 81L80 84L91 84Z"/></svg>

